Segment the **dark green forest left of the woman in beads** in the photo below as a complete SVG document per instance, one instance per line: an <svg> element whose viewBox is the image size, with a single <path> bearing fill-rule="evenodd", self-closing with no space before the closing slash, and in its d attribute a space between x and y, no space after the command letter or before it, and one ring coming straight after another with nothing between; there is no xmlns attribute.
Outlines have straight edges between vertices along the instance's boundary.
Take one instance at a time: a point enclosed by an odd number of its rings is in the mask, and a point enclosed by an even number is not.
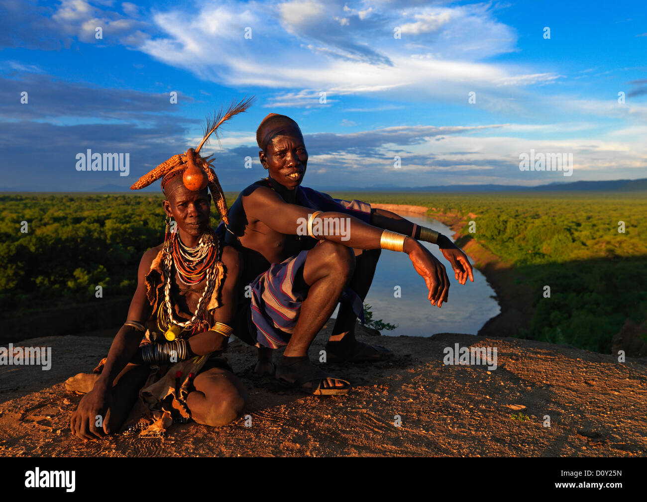
<svg viewBox="0 0 647 502"><path fill-rule="evenodd" d="M162 200L157 194L1 195L1 309L88 301L97 285L107 297L131 296L142 255L164 240Z"/></svg>

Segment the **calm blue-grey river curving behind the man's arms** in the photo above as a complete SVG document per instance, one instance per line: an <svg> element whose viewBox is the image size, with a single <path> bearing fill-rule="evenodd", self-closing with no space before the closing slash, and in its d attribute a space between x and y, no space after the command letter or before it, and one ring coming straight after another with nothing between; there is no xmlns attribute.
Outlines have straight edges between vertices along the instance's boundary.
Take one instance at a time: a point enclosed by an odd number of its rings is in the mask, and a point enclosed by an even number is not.
<svg viewBox="0 0 647 502"><path fill-rule="evenodd" d="M403 217L420 225L432 228L452 238L448 226L425 217L424 215L401 214ZM453 239L452 239L453 241ZM454 279L452 267L443 254L430 243L422 243L433 256L437 257L447 269L450 279L449 297L440 309L434 307L427 295L428 289L424 279L413 269L411 260L404 253L382 251L373 285L368 292L365 303L371 305L373 319L396 324L393 331L383 330L382 334L390 336L431 336L434 333L471 333L476 334L488 319L500 311L494 290L488 285L481 272L474 268L474 282L467 279L461 285ZM472 260L470 259L470 263ZM400 298L395 298L395 287L400 287ZM333 314L336 317L336 311Z"/></svg>

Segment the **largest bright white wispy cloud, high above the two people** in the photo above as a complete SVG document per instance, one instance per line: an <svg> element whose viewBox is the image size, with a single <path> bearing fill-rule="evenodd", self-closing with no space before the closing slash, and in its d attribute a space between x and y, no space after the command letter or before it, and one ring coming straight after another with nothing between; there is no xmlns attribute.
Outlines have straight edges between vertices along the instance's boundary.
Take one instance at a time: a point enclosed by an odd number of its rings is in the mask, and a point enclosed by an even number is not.
<svg viewBox="0 0 647 502"><path fill-rule="evenodd" d="M341 26L339 19L348 19L348 25ZM393 27L406 19L424 21L424 30L436 19L442 40L413 35L393 39ZM413 8L402 14L377 6L356 10L340 1L325 6L313 0L291 1L275 8L251 1L242 9L239 4L209 3L190 14L159 12L153 23L164 36L144 41L140 50L230 86L335 94L397 90L390 96L408 98L415 93L417 98L443 99L475 87L515 87L514 93L560 78L551 72L480 62L513 50L516 39L483 5ZM246 26L252 28L252 39L243 37ZM428 34L422 27L416 30ZM294 102L292 94L298 92L286 91L285 99L276 100Z"/></svg>

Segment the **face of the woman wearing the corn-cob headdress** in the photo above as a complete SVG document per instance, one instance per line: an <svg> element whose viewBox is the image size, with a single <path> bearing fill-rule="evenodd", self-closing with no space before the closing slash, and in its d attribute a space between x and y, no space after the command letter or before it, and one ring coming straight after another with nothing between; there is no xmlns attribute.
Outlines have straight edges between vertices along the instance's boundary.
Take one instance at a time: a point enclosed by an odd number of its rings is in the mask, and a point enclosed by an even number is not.
<svg viewBox="0 0 647 502"><path fill-rule="evenodd" d="M181 230L199 237L207 230L211 196L206 190L191 191L183 184L173 190L168 201L164 201L166 215L175 219Z"/></svg>

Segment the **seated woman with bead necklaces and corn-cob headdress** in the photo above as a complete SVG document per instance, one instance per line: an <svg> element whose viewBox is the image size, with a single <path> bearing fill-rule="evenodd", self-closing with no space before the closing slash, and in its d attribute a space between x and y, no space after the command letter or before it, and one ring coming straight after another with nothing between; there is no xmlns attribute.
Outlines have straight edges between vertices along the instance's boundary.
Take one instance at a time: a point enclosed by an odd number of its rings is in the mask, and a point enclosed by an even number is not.
<svg viewBox="0 0 647 502"><path fill-rule="evenodd" d="M245 111L249 104L232 109ZM215 123L235 115L232 109ZM245 407L245 388L222 356L233 333L241 265L210 224L207 186L223 221L228 210L208 159L197 155L209 134L196 151L175 155L131 187L162 177L166 234L142 257L127 322L107 358L93 374L65 382L68 390L86 393L70 420L72 434L84 441L128 427L159 432L188 419L223 426Z"/></svg>

